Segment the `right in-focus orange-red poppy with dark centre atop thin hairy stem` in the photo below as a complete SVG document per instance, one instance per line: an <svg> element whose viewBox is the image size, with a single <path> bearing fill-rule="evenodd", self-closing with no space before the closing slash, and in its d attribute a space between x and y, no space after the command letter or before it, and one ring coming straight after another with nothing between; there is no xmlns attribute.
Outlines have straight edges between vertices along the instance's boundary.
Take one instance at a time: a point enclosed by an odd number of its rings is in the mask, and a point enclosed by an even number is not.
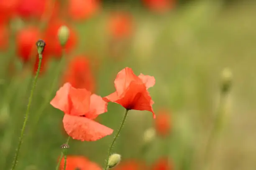
<svg viewBox="0 0 256 170"><path fill-rule="evenodd" d="M127 110L148 110L155 118L152 108L154 101L148 92L148 88L155 84L153 76L136 76L131 68L125 67L118 72L114 83L116 91L103 97L103 100L118 103Z"/></svg>

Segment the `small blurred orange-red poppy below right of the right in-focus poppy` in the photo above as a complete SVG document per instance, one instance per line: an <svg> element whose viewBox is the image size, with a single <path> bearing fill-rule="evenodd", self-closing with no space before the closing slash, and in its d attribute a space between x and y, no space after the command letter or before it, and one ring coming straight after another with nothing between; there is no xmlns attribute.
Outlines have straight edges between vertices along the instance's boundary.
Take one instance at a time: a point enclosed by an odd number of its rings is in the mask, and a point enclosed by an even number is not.
<svg viewBox="0 0 256 170"><path fill-rule="evenodd" d="M171 130L170 117L170 113L166 110L161 110L158 112L157 118L155 120L155 128L159 135L166 136L169 134Z"/></svg>

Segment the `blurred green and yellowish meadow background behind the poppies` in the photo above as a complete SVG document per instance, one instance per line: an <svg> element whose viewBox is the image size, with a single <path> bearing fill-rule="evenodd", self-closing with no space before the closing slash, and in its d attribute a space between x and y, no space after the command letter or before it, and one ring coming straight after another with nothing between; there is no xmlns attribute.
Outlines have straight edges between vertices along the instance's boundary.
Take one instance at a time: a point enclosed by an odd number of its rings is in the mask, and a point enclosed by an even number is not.
<svg viewBox="0 0 256 170"><path fill-rule="evenodd" d="M143 159L151 163L161 155L169 155L177 170L203 169L209 125L218 107L220 75L223 68L229 67L234 75L230 115L214 143L210 169L252 170L256 158L256 4L240 1L226 6L218 0L193 1L165 15L156 15L140 5L133 7L128 5L133 4L130 2L123 4L117 9L133 15L136 29L128 45L118 53L122 60L114 60L108 52L109 37L104 25L114 8L111 4L90 20L72 23L79 43L69 56L85 54L101 61L99 70L95 71L96 93L101 96L115 90L113 80L124 67L133 68L137 75L142 72L156 78L156 85L149 89L155 102L153 108L156 115L161 108L171 110L173 129L168 138L157 137ZM13 39L10 44L8 51L0 53L1 170L9 169L12 164L32 78L30 74L9 75L8 62L15 60ZM63 70L67 62L63 63ZM51 88L58 63L59 60L52 61L38 79L17 170L26 170L30 165L35 165L37 170L54 169L60 145L67 140L62 129L63 113L50 104L38 124L33 123ZM54 94L58 88L56 85ZM124 111L120 105L110 103L108 113L100 115L99 121L117 130ZM141 159L143 133L154 126L153 121L150 112L129 112L114 152L121 154L123 160ZM34 131L31 136L27 135L30 131ZM112 139L113 135L96 142L71 140L68 154L85 155L103 165Z"/></svg>

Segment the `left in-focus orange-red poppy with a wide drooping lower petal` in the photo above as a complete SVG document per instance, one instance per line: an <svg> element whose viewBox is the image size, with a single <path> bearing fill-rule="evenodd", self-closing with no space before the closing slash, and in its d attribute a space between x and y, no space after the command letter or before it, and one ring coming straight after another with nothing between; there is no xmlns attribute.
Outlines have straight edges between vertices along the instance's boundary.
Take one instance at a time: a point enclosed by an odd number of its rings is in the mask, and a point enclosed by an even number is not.
<svg viewBox="0 0 256 170"><path fill-rule="evenodd" d="M107 103L86 89L65 83L56 92L51 105L64 112L64 128L73 139L95 141L113 133L112 129L93 120L107 112Z"/></svg>

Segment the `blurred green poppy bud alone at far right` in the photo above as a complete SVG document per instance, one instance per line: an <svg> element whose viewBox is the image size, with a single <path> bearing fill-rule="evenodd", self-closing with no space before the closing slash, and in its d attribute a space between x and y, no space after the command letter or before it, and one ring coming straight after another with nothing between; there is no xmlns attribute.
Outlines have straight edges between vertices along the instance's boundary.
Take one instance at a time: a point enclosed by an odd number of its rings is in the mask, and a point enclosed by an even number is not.
<svg viewBox="0 0 256 170"><path fill-rule="evenodd" d="M233 75L229 68L225 68L222 71L221 79L221 92L225 94L230 90L233 80Z"/></svg>

